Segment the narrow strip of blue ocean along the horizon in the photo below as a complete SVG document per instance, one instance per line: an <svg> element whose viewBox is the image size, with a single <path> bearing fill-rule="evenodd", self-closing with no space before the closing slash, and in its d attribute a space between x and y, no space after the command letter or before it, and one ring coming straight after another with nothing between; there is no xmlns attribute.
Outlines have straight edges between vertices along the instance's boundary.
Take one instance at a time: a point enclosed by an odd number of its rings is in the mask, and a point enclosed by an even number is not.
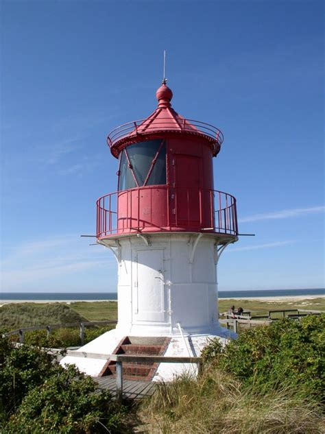
<svg viewBox="0 0 325 434"><path fill-rule="evenodd" d="M254 291L219 291L219 298L250 298L250 297L295 297L324 296L325 289L264 289ZM42 300L117 300L117 293L106 292L3 292L0 301L42 301Z"/></svg>

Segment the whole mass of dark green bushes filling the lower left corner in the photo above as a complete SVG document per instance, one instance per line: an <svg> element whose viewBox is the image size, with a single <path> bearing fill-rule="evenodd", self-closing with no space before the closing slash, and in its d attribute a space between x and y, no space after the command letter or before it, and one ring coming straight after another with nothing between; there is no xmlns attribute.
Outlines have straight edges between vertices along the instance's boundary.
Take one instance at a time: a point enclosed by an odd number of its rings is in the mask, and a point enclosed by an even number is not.
<svg viewBox="0 0 325 434"><path fill-rule="evenodd" d="M121 433L125 410L91 377L61 367L40 348L0 337L0 429L3 434Z"/></svg>

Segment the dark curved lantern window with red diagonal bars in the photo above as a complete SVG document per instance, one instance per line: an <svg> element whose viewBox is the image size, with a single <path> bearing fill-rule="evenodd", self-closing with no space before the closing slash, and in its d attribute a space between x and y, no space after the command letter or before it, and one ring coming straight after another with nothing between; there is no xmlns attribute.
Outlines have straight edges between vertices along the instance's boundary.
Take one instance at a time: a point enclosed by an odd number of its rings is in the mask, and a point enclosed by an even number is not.
<svg viewBox="0 0 325 434"><path fill-rule="evenodd" d="M157 156L158 151L159 154ZM128 158L125 152L128 153L132 170L129 167ZM152 167L152 162L156 156L156 162ZM152 171L149 174L151 169ZM148 174L149 178L146 185L166 184L165 143L162 145L162 140L160 139L134 143L134 145L128 146L122 152L119 175L119 190L133 189L136 187L136 182L132 176L132 171L139 186L143 186Z"/></svg>

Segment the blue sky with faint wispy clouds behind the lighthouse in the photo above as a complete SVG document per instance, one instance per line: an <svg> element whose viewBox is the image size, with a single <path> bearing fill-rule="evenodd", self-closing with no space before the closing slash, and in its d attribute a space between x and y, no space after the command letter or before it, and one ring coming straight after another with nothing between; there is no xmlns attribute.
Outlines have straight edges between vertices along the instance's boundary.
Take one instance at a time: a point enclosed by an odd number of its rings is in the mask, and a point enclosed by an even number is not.
<svg viewBox="0 0 325 434"><path fill-rule="evenodd" d="M156 107L224 133L241 237L219 289L324 287L323 1L1 1L1 290L116 291L106 135Z"/></svg>

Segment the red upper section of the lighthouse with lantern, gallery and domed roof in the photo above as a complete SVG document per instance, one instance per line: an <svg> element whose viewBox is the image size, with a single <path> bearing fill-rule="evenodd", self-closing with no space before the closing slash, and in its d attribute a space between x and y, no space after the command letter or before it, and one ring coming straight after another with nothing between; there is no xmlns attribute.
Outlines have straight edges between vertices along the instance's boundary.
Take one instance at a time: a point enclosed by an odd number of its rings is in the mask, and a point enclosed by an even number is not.
<svg viewBox="0 0 325 434"><path fill-rule="evenodd" d="M119 158L118 191L97 201L97 238L163 231L237 237L236 200L213 189L213 157L223 134L173 110L165 82L156 97L158 107L147 119L108 135Z"/></svg>

